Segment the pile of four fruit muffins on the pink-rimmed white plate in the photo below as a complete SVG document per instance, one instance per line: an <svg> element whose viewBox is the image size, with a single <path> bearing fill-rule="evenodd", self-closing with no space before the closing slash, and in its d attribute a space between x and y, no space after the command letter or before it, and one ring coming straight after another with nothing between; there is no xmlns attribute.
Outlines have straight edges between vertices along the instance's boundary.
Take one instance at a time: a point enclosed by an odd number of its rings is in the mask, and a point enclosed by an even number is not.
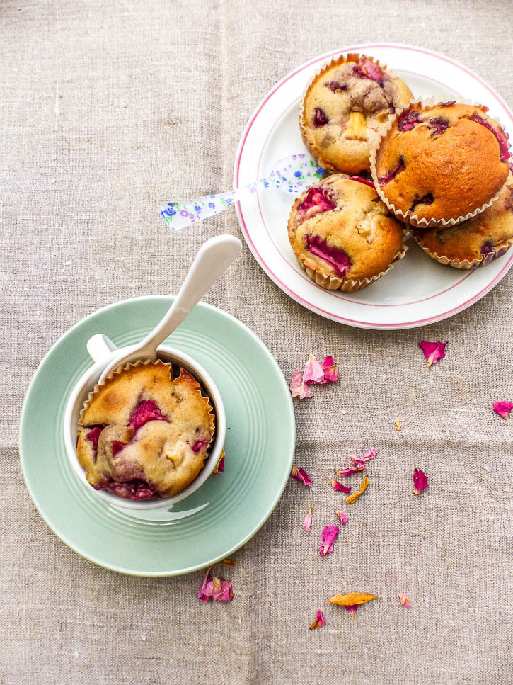
<svg viewBox="0 0 513 685"><path fill-rule="evenodd" d="M507 135L484 106L415 101L377 60L325 65L299 123L332 173L299 197L289 241L310 278L359 290L405 256L405 229L442 264L474 268L513 244Z"/></svg>

